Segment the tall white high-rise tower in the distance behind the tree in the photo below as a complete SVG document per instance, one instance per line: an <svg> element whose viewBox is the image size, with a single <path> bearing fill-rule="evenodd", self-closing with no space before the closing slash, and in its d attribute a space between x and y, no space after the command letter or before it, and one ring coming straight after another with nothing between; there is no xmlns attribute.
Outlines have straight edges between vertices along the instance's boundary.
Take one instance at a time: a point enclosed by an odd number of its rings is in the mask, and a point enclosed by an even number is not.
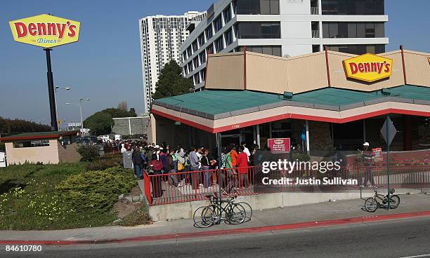
<svg viewBox="0 0 430 258"><path fill-rule="evenodd" d="M188 12L184 15L148 16L139 20L145 113L148 113L159 72L170 60L180 62L179 47L189 34L186 28L191 23L197 24L204 15Z"/></svg>

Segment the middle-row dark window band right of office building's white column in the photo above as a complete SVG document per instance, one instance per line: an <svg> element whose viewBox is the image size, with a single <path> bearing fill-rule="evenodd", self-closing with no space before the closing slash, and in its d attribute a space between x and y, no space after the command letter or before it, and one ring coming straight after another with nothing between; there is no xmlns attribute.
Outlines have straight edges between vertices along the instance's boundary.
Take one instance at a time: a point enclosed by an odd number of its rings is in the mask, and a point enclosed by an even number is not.
<svg viewBox="0 0 430 258"><path fill-rule="evenodd" d="M323 22L323 38L382 38L384 22Z"/></svg>

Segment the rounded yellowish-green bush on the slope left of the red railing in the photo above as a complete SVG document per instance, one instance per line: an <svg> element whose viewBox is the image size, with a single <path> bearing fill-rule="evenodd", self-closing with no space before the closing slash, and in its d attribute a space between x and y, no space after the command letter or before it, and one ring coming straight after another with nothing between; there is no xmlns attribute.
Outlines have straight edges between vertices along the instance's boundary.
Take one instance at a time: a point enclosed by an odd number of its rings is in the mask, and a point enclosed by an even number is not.
<svg viewBox="0 0 430 258"><path fill-rule="evenodd" d="M57 189L67 207L79 212L110 212L120 194L136 186L133 172L124 168L86 171L65 179Z"/></svg>

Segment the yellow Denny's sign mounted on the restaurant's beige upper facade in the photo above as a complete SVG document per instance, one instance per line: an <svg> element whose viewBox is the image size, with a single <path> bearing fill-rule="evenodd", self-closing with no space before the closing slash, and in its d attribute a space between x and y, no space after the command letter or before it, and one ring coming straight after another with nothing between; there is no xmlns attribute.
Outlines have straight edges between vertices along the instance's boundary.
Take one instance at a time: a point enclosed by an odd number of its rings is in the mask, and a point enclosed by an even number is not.
<svg viewBox="0 0 430 258"><path fill-rule="evenodd" d="M391 76L392 67L392 59L373 54L364 54L344 60L347 78L369 83Z"/></svg>

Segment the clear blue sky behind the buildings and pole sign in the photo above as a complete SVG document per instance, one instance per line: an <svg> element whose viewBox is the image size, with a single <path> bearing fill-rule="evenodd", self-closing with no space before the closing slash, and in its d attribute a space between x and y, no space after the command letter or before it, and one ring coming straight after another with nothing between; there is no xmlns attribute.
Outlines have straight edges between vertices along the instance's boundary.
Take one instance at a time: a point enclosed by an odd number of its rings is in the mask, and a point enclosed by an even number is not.
<svg viewBox="0 0 430 258"><path fill-rule="evenodd" d="M281 0L285 1L285 0ZM46 55L37 46L13 41L8 22L42 13L81 22L79 42L51 51L58 113L79 122L79 107L65 105L89 98L84 118L128 102L143 111L143 79L138 20L148 15L180 15L205 11L212 0L2 0L0 4L0 116L49 124ZM386 51L406 49L430 53L430 1L386 0L389 15Z"/></svg>

